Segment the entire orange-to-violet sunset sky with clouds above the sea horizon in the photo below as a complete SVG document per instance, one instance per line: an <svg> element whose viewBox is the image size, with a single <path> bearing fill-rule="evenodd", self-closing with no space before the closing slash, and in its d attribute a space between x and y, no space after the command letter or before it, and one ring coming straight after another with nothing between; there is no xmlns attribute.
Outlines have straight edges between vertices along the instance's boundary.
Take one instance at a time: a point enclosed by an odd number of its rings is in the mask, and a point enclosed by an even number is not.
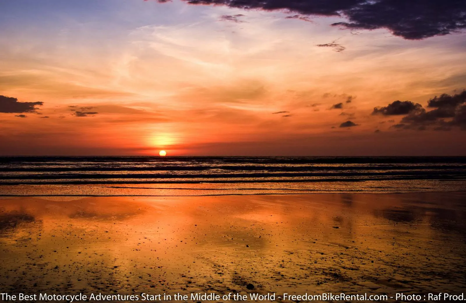
<svg viewBox="0 0 466 303"><path fill-rule="evenodd" d="M1 1L0 155L466 155L465 27L457 0Z"/></svg>

